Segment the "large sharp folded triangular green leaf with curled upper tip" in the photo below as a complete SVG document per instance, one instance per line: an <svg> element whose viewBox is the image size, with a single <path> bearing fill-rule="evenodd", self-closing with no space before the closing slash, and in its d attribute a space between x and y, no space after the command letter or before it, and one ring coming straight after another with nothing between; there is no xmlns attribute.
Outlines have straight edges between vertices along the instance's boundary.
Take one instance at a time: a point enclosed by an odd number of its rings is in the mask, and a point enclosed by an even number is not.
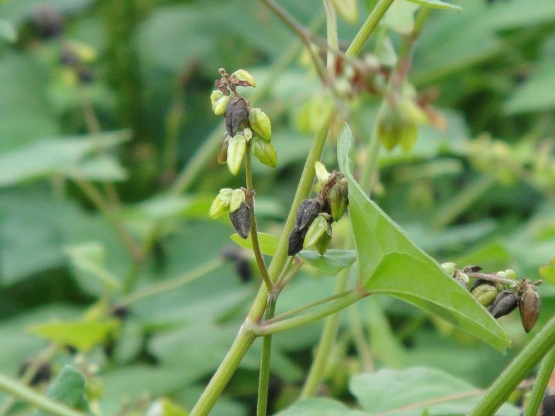
<svg viewBox="0 0 555 416"><path fill-rule="evenodd" d="M504 352L510 340L497 321L412 243L352 177L352 146L350 129L345 127L338 158L349 181L349 212L361 284L372 293L387 293L432 312Z"/></svg>

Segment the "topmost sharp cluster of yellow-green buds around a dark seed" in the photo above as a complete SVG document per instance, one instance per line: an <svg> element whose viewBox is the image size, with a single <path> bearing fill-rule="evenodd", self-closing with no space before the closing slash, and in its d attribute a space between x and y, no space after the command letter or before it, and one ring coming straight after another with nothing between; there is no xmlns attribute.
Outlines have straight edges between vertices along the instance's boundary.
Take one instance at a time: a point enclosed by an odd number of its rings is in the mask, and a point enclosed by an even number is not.
<svg viewBox="0 0 555 416"><path fill-rule="evenodd" d="M244 69L228 75L219 70L221 78L210 95L212 110L216 116L225 118L225 135L218 151L218 162L228 164L233 175L239 173L247 144L252 140L253 153L263 164L275 168L278 155L273 147L270 119L259 108L251 108L250 103L237 94L237 87L255 87L255 78Z"/></svg>

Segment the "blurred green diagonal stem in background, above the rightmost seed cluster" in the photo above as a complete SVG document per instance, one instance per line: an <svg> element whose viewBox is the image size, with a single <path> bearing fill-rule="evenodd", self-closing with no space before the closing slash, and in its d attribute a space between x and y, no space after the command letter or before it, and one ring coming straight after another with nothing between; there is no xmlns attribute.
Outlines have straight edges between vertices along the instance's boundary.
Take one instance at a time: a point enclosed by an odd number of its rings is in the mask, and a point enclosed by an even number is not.
<svg viewBox="0 0 555 416"><path fill-rule="evenodd" d="M491 175L481 175L474 182L472 182L468 187L465 187L463 191L459 192L451 198L443 207L441 207L436 215L435 220L432 223L432 228L441 229L446 225L452 223L472 203L474 203L478 198L480 198L488 189L493 187L495 184L495 177Z"/></svg>

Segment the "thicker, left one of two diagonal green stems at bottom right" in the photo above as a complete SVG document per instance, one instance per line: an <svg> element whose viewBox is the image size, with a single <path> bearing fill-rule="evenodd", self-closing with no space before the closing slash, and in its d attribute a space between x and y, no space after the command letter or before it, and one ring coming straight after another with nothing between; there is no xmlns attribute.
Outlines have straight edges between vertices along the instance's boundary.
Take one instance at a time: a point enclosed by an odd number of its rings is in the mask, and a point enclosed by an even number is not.
<svg viewBox="0 0 555 416"><path fill-rule="evenodd" d="M541 358L553 348L554 339L555 318L552 318L533 340L522 349L509 367L506 367L506 370L495 380L468 416L495 415L497 409L518 387L518 383L525 379Z"/></svg>

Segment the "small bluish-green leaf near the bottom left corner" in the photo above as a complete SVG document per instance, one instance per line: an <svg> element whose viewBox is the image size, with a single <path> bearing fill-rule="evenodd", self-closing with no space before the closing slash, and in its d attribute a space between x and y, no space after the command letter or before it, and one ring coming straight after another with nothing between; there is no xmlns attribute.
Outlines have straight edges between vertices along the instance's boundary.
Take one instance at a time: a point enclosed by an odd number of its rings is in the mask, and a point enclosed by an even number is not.
<svg viewBox="0 0 555 416"><path fill-rule="evenodd" d="M56 377L56 380L46 389L46 395L51 399L89 413L89 404L85 394L85 377L71 365L65 365ZM33 416L47 416L49 413L42 410L33 413Z"/></svg>

